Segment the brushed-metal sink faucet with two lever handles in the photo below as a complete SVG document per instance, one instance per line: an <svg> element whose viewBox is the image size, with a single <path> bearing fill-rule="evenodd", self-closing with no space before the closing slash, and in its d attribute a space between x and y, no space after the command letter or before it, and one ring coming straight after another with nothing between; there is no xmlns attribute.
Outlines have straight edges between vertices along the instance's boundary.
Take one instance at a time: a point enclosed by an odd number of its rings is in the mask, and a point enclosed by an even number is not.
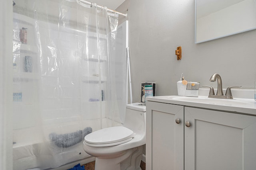
<svg viewBox="0 0 256 170"><path fill-rule="evenodd" d="M203 87L208 87L210 88L209 96L208 98L221 98L221 99L233 99L232 93L231 93L231 88L237 88L237 87L242 87L242 86L230 86L226 90L225 96L223 95L223 90L222 90L222 80L220 77L220 74L213 74L210 78L211 82L215 82L217 79L218 82L218 88L217 88L217 94L214 94L214 89L211 86L203 86Z"/></svg>

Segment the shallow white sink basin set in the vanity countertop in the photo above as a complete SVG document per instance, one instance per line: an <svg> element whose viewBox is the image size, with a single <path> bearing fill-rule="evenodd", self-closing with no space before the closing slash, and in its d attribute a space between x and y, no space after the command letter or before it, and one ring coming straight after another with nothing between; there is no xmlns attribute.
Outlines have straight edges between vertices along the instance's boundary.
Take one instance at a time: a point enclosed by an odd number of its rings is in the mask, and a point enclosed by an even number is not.
<svg viewBox="0 0 256 170"><path fill-rule="evenodd" d="M248 105L249 102L236 100L236 99L217 99L217 98L207 98L207 97L183 97L183 96L169 96L171 100L178 100L183 102L194 102L194 103L204 103L204 104L216 104L216 105Z"/></svg>

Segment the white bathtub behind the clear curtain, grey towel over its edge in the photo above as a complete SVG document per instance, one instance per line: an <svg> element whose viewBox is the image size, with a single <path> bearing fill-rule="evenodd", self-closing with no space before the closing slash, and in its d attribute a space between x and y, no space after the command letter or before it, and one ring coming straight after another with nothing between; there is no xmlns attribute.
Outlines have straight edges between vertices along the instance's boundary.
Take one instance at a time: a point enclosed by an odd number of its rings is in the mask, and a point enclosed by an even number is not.
<svg viewBox="0 0 256 170"><path fill-rule="evenodd" d="M102 119L102 128L108 127L108 122L109 119ZM77 122L73 123L77 124ZM95 121L84 121L81 124L89 125L94 131L99 128ZM122 124L116 122L116 125ZM34 168L38 168L37 170L64 170L72 168L78 163L82 165L95 160L94 157L84 151L83 141L67 148L57 147L54 142L46 141L51 131L45 131L45 134L38 133L42 131L40 128L42 127L14 130L13 170L29 170ZM70 133L75 130L64 128L64 131L65 133Z"/></svg>

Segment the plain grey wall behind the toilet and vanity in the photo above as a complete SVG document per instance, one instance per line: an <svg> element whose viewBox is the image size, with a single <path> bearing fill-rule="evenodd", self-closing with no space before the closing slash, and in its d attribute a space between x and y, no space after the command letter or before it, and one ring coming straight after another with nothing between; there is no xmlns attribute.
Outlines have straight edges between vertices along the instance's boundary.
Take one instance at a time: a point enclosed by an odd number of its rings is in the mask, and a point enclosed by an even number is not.
<svg viewBox="0 0 256 170"><path fill-rule="evenodd" d="M222 77L223 89L254 88L256 30L195 44L195 0L126 0L116 10L127 9L128 17L120 22L129 21L133 102L140 100L141 82L156 82L157 96L177 95L181 73L214 88L217 82L209 81L214 73Z"/></svg>

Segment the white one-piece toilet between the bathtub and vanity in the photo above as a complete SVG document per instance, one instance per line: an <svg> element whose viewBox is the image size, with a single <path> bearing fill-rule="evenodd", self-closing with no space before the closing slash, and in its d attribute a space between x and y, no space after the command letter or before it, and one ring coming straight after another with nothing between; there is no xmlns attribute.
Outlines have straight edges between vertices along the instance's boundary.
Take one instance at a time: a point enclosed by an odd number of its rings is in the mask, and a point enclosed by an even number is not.
<svg viewBox="0 0 256 170"><path fill-rule="evenodd" d="M123 126L108 127L84 137L84 151L96 157L95 170L141 170L146 144L146 106L126 105Z"/></svg>

